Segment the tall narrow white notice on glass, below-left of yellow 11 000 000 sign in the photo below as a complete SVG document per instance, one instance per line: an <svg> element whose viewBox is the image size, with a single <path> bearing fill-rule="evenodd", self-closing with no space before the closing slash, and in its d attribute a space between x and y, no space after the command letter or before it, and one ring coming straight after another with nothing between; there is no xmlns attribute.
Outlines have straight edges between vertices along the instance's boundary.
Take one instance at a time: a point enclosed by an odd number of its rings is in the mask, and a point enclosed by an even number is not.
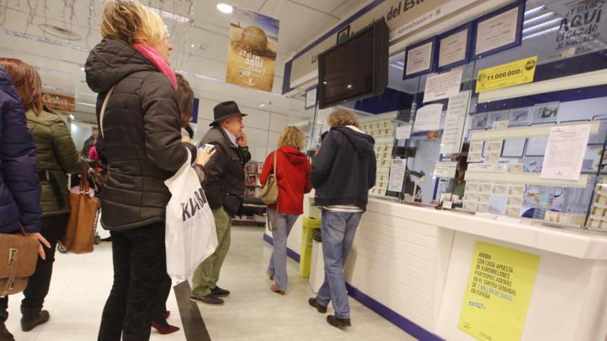
<svg viewBox="0 0 607 341"><path fill-rule="evenodd" d="M449 98L443 140L441 141L441 154L453 154L459 151L461 136L464 134L464 123L466 121L466 111L468 110L469 101L469 90Z"/></svg>

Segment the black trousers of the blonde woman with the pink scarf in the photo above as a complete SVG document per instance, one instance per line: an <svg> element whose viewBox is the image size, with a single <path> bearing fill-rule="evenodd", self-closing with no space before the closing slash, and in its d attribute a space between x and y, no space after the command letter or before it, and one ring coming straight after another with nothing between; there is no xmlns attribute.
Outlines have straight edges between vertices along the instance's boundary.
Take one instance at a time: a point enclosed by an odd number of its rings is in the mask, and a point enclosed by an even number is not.
<svg viewBox="0 0 607 341"><path fill-rule="evenodd" d="M114 285L101 317L98 341L150 340L152 315L166 280L164 223L111 231Z"/></svg>

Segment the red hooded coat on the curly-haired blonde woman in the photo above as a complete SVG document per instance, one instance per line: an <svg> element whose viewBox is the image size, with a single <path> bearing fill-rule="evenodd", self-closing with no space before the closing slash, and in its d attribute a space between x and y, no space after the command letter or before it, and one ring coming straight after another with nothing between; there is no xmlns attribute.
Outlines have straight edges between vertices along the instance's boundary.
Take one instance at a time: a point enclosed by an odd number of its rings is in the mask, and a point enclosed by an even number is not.
<svg viewBox="0 0 607 341"><path fill-rule="evenodd" d="M278 149L278 211L286 214L304 213L304 194L310 193L312 184L310 183L310 161L308 157L299 149L290 146L283 146ZM263 164L263 171L259 176L261 185L266 183L268 176L274 172L274 152L266 158ZM276 209L276 205L269 205L268 208Z"/></svg>

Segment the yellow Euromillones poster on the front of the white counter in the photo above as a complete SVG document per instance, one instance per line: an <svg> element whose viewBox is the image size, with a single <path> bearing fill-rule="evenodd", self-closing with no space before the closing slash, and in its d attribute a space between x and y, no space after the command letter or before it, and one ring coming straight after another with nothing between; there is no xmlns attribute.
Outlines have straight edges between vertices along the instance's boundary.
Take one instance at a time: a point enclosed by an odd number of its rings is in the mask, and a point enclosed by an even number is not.
<svg viewBox="0 0 607 341"><path fill-rule="evenodd" d="M481 341L521 340L539 256L476 242L458 329Z"/></svg>

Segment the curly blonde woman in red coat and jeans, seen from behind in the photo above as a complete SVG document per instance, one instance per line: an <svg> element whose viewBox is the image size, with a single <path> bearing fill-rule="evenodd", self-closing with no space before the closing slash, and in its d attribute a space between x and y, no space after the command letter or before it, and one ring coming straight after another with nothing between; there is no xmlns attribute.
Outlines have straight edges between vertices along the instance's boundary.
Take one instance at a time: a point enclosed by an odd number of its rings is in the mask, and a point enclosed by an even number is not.
<svg viewBox="0 0 607 341"><path fill-rule="evenodd" d="M265 184L276 167L279 205L269 205L268 214L271 222L275 221L276 214L278 220L277 226L272 227L274 250L268 275L275 279L270 290L280 295L284 295L287 289L287 238L297 217L304 213L304 194L312 189L308 176L310 162L306 154L300 152L305 144L304 132L297 127L286 127L277 141L277 165L274 164L275 152L271 152L259 176L261 184Z"/></svg>

